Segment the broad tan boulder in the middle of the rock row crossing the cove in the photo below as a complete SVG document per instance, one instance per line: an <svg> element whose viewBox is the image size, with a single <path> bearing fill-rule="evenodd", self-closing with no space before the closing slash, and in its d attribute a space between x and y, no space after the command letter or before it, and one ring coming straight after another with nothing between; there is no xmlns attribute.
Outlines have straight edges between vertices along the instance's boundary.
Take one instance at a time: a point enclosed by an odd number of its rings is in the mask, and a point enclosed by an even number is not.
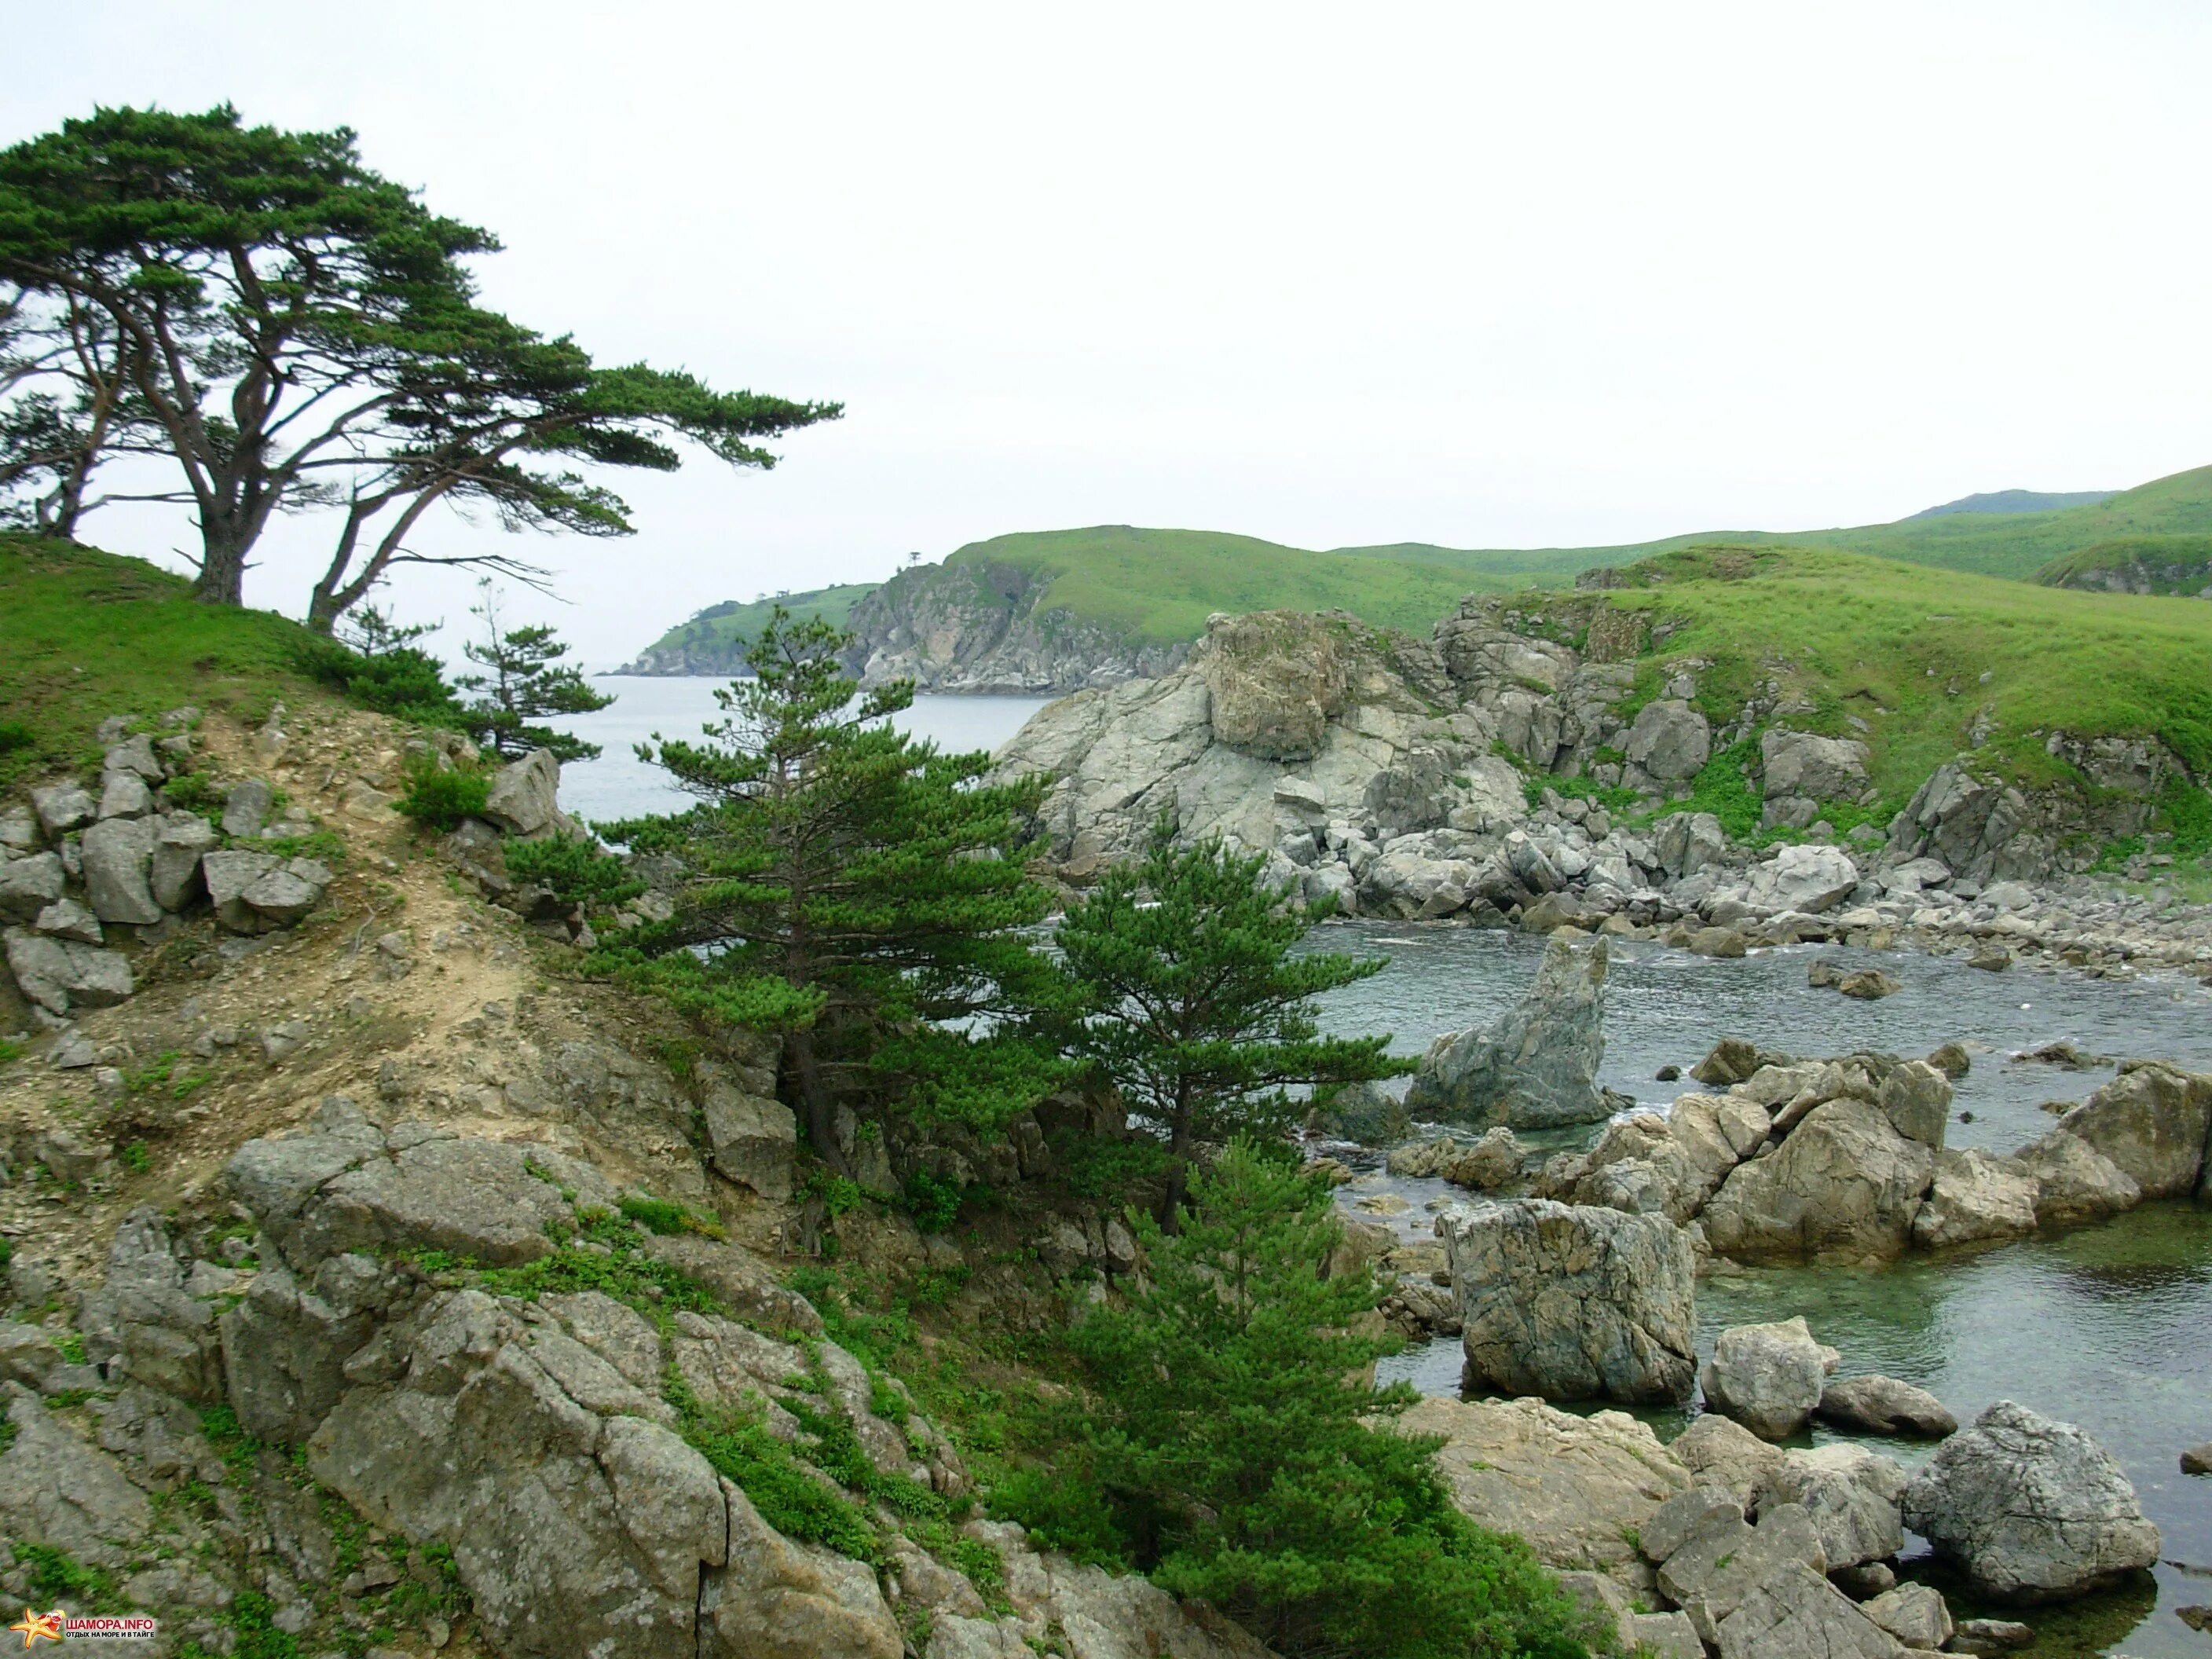
<svg viewBox="0 0 2212 1659"><path fill-rule="evenodd" d="M1739 1164L1701 1217L1723 1256L1891 1261L1911 1241L1936 1152L1863 1099L1829 1099L1767 1157Z"/></svg>

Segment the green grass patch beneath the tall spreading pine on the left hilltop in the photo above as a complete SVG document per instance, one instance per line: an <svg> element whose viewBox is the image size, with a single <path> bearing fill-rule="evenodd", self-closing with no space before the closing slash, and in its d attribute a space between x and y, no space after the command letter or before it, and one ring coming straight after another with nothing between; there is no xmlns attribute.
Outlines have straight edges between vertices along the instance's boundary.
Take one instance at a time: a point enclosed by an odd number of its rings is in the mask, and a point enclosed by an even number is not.
<svg viewBox="0 0 2212 1659"><path fill-rule="evenodd" d="M97 763L108 714L179 703L250 721L327 699L303 670L312 635L268 611L195 604L144 560L0 533L0 785Z"/></svg>

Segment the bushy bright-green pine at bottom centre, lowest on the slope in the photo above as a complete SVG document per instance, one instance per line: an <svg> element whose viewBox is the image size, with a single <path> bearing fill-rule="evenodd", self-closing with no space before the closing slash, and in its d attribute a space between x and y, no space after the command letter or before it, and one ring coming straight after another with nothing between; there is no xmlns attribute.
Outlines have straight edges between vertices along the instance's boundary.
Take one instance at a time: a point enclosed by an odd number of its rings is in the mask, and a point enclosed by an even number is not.
<svg viewBox="0 0 2212 1659"><path fill-rule="evenodd" d="M1139 1564L1281 1652L1582 1659L1528 1546L1467 1522L1440 1442L1389 1427L1418 1396L1365 1380L1396 1343L1360 1334L1369 1267L1325 1276L1329 1188L1237 1139L1190 1197L1172 1237L1133 1217L1146 1279L1071 1334L1093 1383L1075 1478Z"/></svg>

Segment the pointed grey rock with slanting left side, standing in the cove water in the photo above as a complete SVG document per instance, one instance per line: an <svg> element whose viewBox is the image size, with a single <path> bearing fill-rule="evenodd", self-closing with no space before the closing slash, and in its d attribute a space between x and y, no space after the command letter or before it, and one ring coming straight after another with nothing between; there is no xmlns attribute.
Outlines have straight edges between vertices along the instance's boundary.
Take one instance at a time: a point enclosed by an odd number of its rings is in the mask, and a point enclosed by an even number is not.
<svg viewBox="0 0 2212 1659"><path fill-rule="evenodd" d="M1606 940L1544 947L1535 984L1491 1026L1438 1037L1405 1106L1509 1128L1595 1124L1613 1115L1597 1086L1606 1055Z"/></svg>

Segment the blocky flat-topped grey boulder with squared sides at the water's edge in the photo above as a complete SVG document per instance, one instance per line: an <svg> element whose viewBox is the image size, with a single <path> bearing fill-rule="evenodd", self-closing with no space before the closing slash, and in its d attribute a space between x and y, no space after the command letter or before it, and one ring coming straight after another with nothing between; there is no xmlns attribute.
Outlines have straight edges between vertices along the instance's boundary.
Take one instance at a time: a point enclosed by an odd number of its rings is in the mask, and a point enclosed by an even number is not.
<svg viewBox="0 0 2212 1659"><path fill-rule="evenodd" d="M1683 1405L1694 1254L1663 1214L1511 1199L1438 1217L1460 1298L1464 1387Z"/></svg>

